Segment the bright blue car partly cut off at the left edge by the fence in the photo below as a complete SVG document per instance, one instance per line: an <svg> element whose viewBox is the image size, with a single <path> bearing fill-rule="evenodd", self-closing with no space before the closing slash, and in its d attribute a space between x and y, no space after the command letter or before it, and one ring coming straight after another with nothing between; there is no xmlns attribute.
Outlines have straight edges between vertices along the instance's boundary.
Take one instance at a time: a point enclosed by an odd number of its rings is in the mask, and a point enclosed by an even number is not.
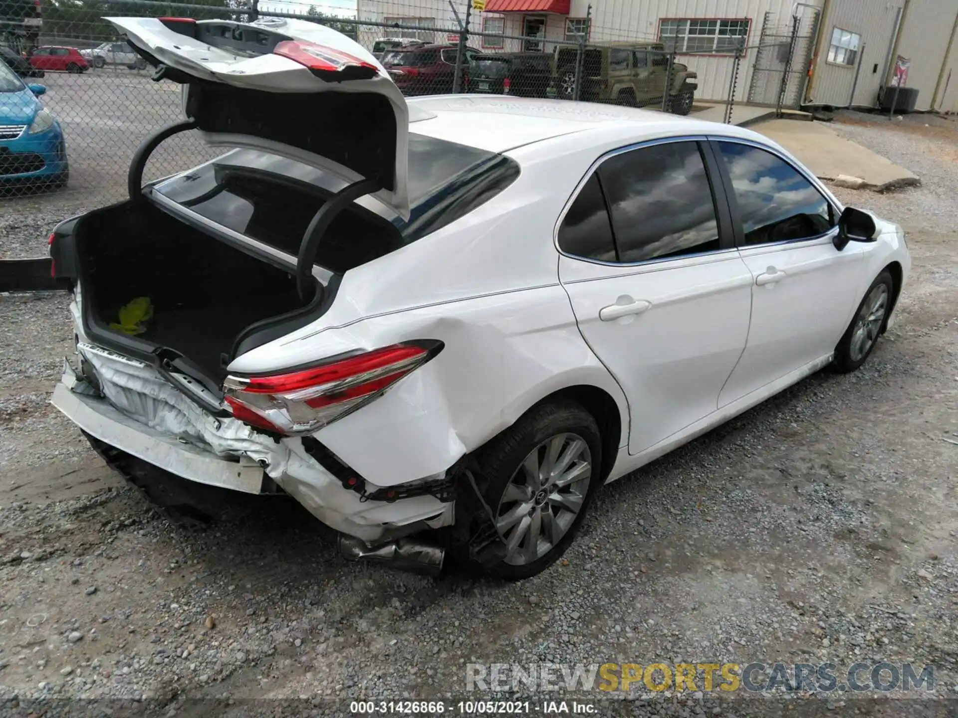
<svg viewBox="0 0 958 718"><path fill-rule="evenodd" d="M0 187L62 187L69 177L60 124L36 99L43 85L25 85L0 60Z"/></svg>

